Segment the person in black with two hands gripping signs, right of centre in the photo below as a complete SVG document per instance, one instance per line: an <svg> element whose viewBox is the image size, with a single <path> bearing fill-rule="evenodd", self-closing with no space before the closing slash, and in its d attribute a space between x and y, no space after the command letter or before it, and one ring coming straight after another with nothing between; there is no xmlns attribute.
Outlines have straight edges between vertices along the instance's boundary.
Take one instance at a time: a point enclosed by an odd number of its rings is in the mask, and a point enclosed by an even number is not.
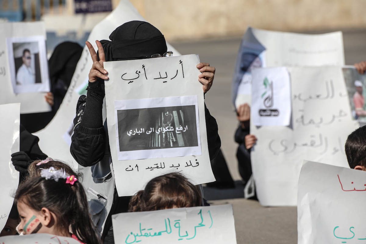
<svg viewBox="0 0 366 244"><path fill-rule="evenodd" d="M257 142L255 135L250 134L250 107L248 104L241 104L236 110L237 119L240 124L235 131L235 142L239 144L236 151L236 157L238 158L239 174L243 179L243 183L246 184L252 175L250 150Z"/></svg>

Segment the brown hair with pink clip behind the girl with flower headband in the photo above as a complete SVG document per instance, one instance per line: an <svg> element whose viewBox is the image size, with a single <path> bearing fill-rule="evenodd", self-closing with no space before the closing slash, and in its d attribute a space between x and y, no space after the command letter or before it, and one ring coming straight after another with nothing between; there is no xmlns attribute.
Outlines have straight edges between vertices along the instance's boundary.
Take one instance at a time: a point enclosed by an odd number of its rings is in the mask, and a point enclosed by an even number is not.
<svg viewBox="0 0 366 244"><path fill-rule="evenodd" d="M27 177L27 179L41 176L41 169L49 169L51 167L55 168L56 170L64 169L67 174L74 175L76 176L76 179L80 181L82 180L82 173L76 173L66 163L53 160L52 158L46 158L45 160L36 160L31 162L31 164L28 166L29 176Z"/></svg>

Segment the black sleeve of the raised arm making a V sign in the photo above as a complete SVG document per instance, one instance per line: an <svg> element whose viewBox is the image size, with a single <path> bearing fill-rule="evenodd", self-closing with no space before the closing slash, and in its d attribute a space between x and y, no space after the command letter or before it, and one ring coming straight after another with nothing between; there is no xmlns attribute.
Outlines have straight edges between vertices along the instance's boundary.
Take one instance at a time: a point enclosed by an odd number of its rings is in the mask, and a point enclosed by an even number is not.
<svg viewBox="0 0 366 244"><path fill-rule="evenodd" d="M78 164L97 164L105 154L105 131L102 124L104 84L89 82L87 97L79 97L74 119L70 152Z"/></svg>

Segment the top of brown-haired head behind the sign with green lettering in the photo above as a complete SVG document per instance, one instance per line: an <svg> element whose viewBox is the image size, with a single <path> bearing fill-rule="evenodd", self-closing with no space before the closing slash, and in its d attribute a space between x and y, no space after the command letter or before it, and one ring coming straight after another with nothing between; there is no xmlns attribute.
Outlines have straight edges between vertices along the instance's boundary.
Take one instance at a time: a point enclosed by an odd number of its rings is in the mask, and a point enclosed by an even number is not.
<svg viewBox="0 0 366 244"><path fill-rule="evenodd" d="M202 206L201 191L180 173L150 180L144 190L132 196L129 212Z"/></svg>

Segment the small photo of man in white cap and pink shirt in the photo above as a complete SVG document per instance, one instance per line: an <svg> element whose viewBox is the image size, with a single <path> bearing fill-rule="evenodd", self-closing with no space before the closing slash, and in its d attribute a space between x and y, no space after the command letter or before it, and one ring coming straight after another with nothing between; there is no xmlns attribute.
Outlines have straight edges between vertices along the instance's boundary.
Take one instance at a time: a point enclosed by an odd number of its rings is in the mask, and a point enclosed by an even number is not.
<svg viewBox="0 0 366 244"><path fill-rule="evenodd" d="M355 68L343 68L352 117L366 124L366 75L361 75Z"/></svg>

